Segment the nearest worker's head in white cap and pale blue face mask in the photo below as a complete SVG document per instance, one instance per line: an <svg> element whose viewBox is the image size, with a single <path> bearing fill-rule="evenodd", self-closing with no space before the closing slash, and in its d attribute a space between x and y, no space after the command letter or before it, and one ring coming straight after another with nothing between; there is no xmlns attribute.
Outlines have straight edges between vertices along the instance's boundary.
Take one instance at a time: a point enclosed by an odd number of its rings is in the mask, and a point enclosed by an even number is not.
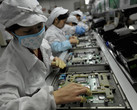
<svg viewBox="0 0 137 110"><path fill-rule="evenodd" d="M41 9L37 0L4 0L0 7L0 23L24 47L37 49L45 31L43 22L47 20Z"/></svg>

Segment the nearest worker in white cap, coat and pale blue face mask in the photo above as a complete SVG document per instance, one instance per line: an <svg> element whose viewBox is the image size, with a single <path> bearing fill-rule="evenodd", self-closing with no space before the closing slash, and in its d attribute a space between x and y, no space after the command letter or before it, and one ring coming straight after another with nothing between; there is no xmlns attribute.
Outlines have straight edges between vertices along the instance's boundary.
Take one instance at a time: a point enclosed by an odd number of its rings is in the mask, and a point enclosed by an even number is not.
<svg viewBox="0 0 137 110"><path fill-rule="evenodd" d="M56 104L84 100L79 95L88 89L80 84L53 91L45 83L48 73L38 49L45 21L37 0L4 0L0 5L0 23L13 36L0 58L0 110L55 110Z"/></svg>

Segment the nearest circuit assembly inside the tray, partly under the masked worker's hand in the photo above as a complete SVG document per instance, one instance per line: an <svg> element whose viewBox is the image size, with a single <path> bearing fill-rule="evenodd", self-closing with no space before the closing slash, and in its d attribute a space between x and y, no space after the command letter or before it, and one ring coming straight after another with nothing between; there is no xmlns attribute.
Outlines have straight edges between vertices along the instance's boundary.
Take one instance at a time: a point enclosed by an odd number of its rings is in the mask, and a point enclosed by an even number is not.
<svg viewBox="0 0 137 110"><path fill-rule="evenodd" d="M110 86L107 77L105 73L67 75L65 82L60 80L59 88L70 82L79 83L92 91L92 96L86 97L88 102L105 103L104 101L108 100L109 103L113 103L115 88Z"/></svg>

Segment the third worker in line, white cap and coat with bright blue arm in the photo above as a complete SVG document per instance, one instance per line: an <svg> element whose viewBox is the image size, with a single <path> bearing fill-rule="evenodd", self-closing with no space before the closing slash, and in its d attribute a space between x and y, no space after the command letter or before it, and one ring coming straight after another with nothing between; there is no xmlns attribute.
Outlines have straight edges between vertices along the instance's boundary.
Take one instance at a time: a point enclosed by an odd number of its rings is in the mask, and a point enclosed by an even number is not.
<svg viewBox="0 0 137 110"><path fill-rule="evenodd" d="M76 16L70 15L67 18L66 24L63 27L63 31L65 32L66 35L83 35L85 33L85 29L83 27L80 27L77 25L78 24L78 20L76 18Z"/></svg>

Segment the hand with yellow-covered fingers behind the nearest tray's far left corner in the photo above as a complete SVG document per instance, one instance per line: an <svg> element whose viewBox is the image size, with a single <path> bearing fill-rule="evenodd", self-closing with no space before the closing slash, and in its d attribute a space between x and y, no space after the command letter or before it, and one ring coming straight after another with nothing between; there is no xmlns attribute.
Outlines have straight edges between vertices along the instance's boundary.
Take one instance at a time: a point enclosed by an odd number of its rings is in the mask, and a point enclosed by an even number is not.
<svg viewBox="0 0 137 110"><path fill-rule="evenodd" d="M63 68L66 67L66 64L64 63L64 61L61 60L61 59L58 58L58 57L55 57L55 58L53 59L53 61L51 62L51 65L52 65L52 66L59 67L59 68L61 68L61 69L63 69Z"/></svg>

